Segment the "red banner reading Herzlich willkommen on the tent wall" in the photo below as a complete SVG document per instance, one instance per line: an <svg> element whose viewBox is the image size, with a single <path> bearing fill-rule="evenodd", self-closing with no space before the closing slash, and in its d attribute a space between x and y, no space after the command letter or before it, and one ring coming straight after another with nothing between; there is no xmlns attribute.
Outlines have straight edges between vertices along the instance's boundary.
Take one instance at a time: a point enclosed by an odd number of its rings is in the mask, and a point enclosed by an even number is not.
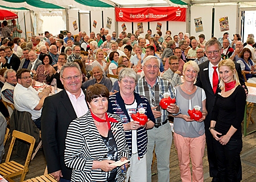
<svg viewBox="0 0 256 182"><path fill-rule="evenodd" d="M115 7L115 20L117 22L185 22L185 19L186 9L184 7Z"/></svg>

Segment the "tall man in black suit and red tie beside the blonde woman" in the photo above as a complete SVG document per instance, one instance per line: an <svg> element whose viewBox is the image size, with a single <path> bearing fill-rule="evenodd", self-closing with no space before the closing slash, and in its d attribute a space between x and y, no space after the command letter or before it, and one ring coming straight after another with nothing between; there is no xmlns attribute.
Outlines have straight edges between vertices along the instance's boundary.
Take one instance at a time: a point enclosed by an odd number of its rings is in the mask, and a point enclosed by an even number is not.
<svg viewBox="0 0 256 182"><path fill-rule="evenodd" d="M210 39L205 44L205 54L208 57L208 61L205 61L204 63L199 65L200 71L196 78L196 85L203 88L207 96L208 115L207 115L207 118L205 118L204 120L204 125L205 125L205 137L207 142L209 173L210 173L210 177L213 177L212 181L218 181L217 160L216 160L216 155L214 153L214 148L212 143L214 138L212 137L212 134L209 131L209 127L210 127L210 121L212 119L212 110L214 106L215 96L218 93L218 89L215 93L213 91L212 80L213 80L213 72L214 72L213 67L218 66L218 63L220 63L221 61L220 42L218 42L218 40ZM236 70L239 76L240 84L245 85L245 82L243 81L243 77L241 73L240 64L237 64L237 63L235 64L236 64ZM217 68L217 72L218 72L218 68Z"/></svg>

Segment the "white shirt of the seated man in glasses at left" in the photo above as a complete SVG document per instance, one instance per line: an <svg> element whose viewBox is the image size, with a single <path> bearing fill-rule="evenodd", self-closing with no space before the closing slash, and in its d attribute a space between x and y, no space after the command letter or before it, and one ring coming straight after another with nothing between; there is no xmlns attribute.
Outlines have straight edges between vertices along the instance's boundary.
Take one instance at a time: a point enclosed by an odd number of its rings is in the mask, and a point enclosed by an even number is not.
<svg viewBox="0 0 256 182"><path fill-rule="evenodd" d="M27 111L32 115L32 120L41 117L42 108L40 110L34 110L39 104L40 98L38 92L32 86L26 88L17 83L14 88L13 100L15 109L18 111Z"/></svg>

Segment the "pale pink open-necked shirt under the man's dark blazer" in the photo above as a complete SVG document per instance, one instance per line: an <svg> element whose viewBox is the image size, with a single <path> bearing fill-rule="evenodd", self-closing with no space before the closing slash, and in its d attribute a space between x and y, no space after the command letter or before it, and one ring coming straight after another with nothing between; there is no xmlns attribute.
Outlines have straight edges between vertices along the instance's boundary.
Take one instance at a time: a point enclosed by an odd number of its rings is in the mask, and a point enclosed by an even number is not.
<svg viewBox="0 0 256 182"><path fill-rule="evenodd" d="M71 104L76 112L77 118L80 118L81 116L85 115L89 109L86 105L85 94L84 94L84 92L82 92L82 89L81 89L80 96L77 98L75 95L68 92L68 90L66 90L66 92L67 92L69 100L71 101Z"/></svg>

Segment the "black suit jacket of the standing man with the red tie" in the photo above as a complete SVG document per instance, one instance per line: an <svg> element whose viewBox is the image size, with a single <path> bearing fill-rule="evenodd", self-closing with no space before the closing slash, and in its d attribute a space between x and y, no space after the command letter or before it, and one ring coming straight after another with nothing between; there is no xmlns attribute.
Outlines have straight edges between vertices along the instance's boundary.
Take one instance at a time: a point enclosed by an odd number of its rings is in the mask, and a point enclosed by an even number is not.
<svg viewBox="0 0 256 182"><path fill-rule="evenodd" d="M241 85L245 85L245 81L243 81L243 76L242 76L242 71L241 71L241 66L238 63L236 64L236 70L238 73L239 81ZM205 118L205 129L208 129L210 127L210 121L212 119L212 110L214 106L214 101L215 101L215 94L212 90L212 85L210 85L210 80L209 80L209 60L205 61L204 63L199 65L200 71L198 73L198 76L196 78L196 86L199 86L200 88L204 89L204 92L207 96L207 102L206 102L206 107L208 111L207 118ZM246 86L245 86L246 88ZM220 88L217 89L216 94L220 92Z"/></svg>

